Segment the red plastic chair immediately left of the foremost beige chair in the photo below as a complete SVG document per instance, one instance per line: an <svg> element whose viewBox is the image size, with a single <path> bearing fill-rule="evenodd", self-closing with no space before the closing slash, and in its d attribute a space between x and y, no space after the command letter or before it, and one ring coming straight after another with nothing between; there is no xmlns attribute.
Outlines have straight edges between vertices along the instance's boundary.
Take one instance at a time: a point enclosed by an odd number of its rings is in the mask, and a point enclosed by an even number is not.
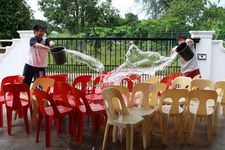
<svg viewBox="0 0 225 150"><path fill-rule="evenodd" d="M88 103L83 92L77 88L72 88L67 83L60 83L62 89L64 104L73 108L75 112L75 128L74 135L78 143L82 143L82 130L84 126L84 119L86 116L92 117L92 125L94 129L100 126L101 115L106 116L105 108L100 104ZM68 95L72 94L73 98ZM83 102L83 103L82 103Z"/></svg>

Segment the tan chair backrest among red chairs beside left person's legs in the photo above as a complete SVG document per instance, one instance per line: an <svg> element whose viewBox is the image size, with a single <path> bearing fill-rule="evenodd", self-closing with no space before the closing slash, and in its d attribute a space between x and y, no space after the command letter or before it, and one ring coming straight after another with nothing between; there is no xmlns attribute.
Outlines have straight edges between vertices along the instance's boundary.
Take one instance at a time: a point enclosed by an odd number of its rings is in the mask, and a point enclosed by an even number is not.
<svg viewBox="0 0 225 150"><path fill-rule="evenodd" d="M31 87L31 95L33 95L34 89L48 92L48 90L54 85L54 83L55 80L52 78L37 78Z"/></svg>

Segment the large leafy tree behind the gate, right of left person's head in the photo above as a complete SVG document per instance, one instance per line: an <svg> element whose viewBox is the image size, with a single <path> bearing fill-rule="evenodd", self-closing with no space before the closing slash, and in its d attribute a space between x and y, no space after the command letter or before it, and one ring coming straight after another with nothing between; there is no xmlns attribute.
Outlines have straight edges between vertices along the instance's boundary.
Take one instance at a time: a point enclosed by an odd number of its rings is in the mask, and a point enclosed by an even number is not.
<svg viewBox="0 0 225 150"><path fill-rule="evenodd" d="M112 7L111 0L101 3L100 0L39 0L39 5L51 24L68 29L71 33L120 23L118 10Z"/></svg>

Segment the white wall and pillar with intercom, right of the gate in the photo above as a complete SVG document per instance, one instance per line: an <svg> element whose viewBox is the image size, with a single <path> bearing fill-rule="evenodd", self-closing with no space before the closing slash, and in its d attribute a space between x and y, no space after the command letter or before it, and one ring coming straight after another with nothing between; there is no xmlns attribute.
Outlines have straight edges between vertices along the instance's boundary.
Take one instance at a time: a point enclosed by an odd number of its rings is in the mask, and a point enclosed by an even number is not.
<svg viewBox="0 0 225 150"><path fill-rule="evenodd" d="M223 69L225 48L222 40L212 39L214 33L214 31L190 31L192 38L200 38L196 44L196 51L202 77L216 82L225 79Z"/></svg>

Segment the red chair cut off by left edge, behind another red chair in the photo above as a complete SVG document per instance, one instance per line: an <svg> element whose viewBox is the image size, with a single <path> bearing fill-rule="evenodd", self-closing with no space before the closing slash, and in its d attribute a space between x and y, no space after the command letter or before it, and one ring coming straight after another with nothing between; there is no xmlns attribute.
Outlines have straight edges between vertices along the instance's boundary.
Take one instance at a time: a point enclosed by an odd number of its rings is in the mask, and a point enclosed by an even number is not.
<svg viewBox="0 0 225 150"><path fill-rule="evenodd" d="M16 84L16 83L21 84L23 83L23 79L24 79L24 76L20 76L20 75L7 76L2 79L1 89L6 84ZM5 103L3 91L1 89L0 89L0 128L3 127L3 107L2 106ZM7 99L9 99L9 97L11 97L12 99L12 96L7 95Z"/></svg>

